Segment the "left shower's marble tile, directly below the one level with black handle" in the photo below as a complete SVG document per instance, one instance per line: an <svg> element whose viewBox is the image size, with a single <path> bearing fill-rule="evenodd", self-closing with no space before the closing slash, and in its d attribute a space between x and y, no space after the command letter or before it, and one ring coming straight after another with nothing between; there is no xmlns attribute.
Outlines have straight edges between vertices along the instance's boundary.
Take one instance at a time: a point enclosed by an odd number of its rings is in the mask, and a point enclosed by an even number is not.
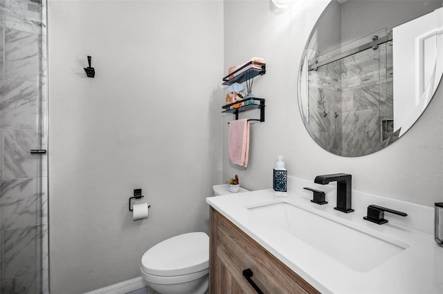
<svg viewBox="0 0 443 294"><path fill-rule="evenodd" d="M47 197L46 191L40 191L41 182L42 179L38 177L1 181L1 229L24 228L44 223L47 219L47 210L44 208Z"/></svg>

